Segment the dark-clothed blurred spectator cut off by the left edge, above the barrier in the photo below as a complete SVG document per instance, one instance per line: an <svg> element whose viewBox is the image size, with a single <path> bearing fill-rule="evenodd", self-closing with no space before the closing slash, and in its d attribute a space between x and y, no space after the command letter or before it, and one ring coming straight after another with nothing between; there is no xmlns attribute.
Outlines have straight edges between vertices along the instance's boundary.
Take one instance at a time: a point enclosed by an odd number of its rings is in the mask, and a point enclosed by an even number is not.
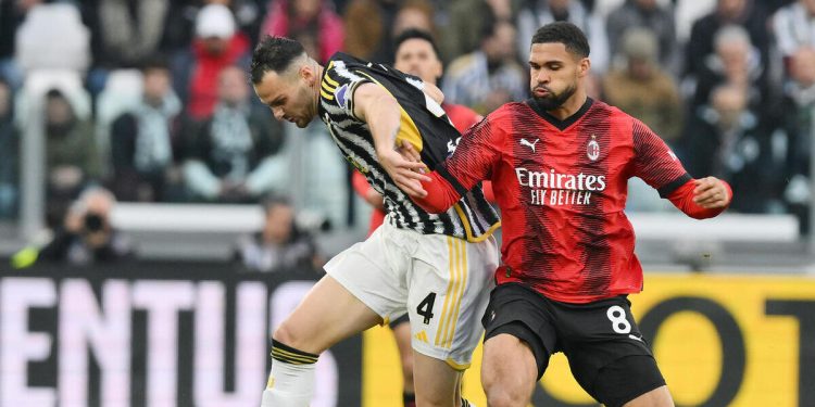
<svg viewBox="0 0 815 407"><path fill-rule="evenodd" d="M16 215L18 196L20 131L14 126L14 92L0 77L0 218Z"/></svg>

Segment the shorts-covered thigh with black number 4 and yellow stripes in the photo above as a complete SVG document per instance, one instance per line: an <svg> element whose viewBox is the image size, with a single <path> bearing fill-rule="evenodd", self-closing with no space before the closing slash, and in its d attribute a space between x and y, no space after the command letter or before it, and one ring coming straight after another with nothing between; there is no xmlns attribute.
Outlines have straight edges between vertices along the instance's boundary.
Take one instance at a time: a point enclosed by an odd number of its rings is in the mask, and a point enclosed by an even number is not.
<svg viewBox="0 0 815 407"><path fill-rule="evenodd" d="M494 241L468 243L425 236L413 253L408 313L413 348L463 370L481 338L484 315L498 267Z"/></svg>

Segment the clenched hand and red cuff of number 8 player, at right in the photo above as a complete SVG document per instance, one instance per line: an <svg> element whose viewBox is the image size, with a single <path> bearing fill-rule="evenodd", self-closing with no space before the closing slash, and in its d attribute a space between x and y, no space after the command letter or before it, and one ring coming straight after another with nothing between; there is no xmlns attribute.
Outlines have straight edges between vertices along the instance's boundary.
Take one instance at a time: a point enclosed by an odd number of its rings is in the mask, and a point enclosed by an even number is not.
<svg viewBox="0 0 815 407"><path fill-rule="evenodd" d="M668 200L686 215L707 219L730 205L732 189L726 181L714 177L691 179L672 192Z"/></svg>

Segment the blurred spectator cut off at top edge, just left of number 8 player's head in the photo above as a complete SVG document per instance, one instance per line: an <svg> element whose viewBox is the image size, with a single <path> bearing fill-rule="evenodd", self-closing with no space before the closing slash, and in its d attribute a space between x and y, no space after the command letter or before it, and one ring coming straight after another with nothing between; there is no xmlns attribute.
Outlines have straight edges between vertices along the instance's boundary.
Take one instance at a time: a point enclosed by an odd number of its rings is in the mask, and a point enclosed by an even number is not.
<svg viewBox="0 0 815 407"><path fill-rule="evenodd" d="M449 63L478 49L485 26L492 21L514 23L521 0L453 0L449 21L440 26L441 58ZM474 13L474 10L478 10Z"/></svg>

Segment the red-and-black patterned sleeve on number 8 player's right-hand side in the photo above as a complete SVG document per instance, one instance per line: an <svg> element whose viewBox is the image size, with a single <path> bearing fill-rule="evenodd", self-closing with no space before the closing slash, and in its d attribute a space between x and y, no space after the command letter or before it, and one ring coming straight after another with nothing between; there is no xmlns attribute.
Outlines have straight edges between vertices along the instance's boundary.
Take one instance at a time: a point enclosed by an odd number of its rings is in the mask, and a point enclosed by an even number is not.
<svg viewBox="0 0 815 407"><path fill-rule="evenodd" d="M672 192L691 180L690 175L676 154L642 122L634 120L634 175L656 189L660 196Z"/></svg>

